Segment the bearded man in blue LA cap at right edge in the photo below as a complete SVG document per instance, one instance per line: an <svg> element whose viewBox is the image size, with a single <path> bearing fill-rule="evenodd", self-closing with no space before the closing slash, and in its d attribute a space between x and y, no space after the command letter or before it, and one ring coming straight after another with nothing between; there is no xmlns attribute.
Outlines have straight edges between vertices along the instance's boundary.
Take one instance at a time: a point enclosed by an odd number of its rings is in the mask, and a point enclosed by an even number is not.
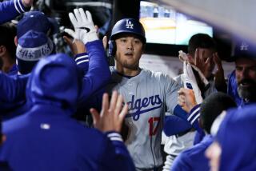
<svg viewBox="0 0 256 171"><path fill-rule="evenodd" d="M234 97L239 106L256 100L255 57L255 46L245 41L237 42L232 57L236 68L228 79L227 93Z"/></svg>

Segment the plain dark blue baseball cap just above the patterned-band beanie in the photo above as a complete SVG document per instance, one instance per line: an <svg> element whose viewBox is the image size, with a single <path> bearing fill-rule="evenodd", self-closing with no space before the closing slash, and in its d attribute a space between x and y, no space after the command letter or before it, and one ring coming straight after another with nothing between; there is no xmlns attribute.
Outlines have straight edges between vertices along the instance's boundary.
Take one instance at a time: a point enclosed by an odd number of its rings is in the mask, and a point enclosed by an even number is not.
<svg viewBox="0 0 256 171"><path fill-rule="evenodd" d="M47 35L58 31L58 23L54 18L47 18L46 14L38 10L26 12L17 25L17 37L21 38L29 30L35 30Z"/></svg>

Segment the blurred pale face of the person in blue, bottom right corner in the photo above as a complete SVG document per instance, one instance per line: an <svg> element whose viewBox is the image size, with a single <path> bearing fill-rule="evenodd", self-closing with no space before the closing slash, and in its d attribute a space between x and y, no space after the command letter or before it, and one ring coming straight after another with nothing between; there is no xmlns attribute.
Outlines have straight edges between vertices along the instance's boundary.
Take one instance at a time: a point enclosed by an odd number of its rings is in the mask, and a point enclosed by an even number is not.
<svg viewBox="0 0 256 171"><path fill-rule="evenodd" d="M206 149L206 157L209 159L211 171L218 171L221 154L222 149L217 141L214 141L214 143Z"/></svg>

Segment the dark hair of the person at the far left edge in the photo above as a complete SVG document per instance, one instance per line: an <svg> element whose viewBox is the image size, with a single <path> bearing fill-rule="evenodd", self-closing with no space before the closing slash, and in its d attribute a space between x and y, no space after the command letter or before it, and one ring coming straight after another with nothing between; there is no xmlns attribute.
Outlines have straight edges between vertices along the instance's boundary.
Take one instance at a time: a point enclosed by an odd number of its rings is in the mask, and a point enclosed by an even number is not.
<svg viewBox="0 0 256 171"><path fill-rule="evenodd" d="M7 22L0 25L0 46L6 46L6 50L8 50L13 61L16 58L16 46L14 44L16 33L17 30L14 24Z"/></svg>

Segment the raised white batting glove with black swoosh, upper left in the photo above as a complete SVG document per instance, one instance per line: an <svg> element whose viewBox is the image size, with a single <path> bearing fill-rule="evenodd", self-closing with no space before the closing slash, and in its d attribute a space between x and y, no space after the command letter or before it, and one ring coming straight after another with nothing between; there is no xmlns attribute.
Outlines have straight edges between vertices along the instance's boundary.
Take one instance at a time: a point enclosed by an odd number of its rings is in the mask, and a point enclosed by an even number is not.
<svg viewBox="0 0 256 171"><path fill-rule="evenodd" d="M82 41L84 44L98 40L97 30L88 10L85 13L82 8L74 9L74 14L70 13L69 17L74 30L66 29L65 32L67 34L70 34L74 39Z"/></svg>

